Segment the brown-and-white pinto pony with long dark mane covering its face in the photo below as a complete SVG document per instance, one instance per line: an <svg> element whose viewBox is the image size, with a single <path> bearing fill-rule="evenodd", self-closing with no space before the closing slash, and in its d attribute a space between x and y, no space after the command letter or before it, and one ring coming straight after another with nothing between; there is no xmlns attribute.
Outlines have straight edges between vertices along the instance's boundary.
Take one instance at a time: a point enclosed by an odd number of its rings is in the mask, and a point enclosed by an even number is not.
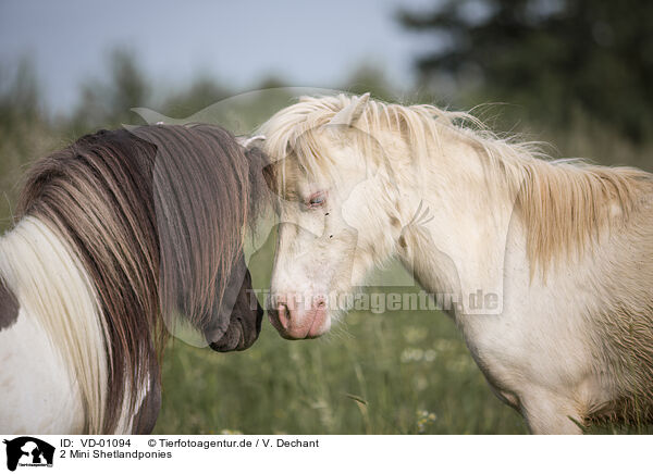
<svg viewBox="0 0 653 474"><path fill-rule="evenodd" d="M0 240L0 432L149 433L177 322L260 332L244 234L266 157L211 125L101 130L29 171Z"/></svg>

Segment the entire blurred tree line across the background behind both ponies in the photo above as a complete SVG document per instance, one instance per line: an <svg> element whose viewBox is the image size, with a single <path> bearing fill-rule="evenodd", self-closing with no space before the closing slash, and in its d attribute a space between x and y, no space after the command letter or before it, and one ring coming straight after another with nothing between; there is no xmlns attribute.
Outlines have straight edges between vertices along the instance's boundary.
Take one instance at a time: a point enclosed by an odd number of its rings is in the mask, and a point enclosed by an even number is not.
<svg viewBox="0 0 653 474"><path fill-rule="evenodd" d="M518 105L477 114L498 132L555 144L554 155L653 171L653 2L439 0L398 21L431 45L416 60L416 87L398 99L382 70L361 64L334 88L407 103ZM0 65L0 216L11 214L25 163L98 128L143 123L131 108L181 118L238 92L208 76L153 90L137 58L116 49L102 78L82 84L78 104L54 115L30 62L14 70ZM284 85L294 86L268 77L254 88Z"/></svg>

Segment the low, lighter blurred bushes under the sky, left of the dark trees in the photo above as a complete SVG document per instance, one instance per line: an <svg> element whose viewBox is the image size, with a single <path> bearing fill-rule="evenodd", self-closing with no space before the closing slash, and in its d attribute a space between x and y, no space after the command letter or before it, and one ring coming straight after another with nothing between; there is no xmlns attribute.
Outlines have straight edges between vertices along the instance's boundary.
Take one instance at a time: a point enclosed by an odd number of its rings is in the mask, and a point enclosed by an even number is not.
<svg viewBox="0 0 653 474"><path fill-rule="evenodd" d="M172 118L185 118L241 92L213 77L201 75L184 87L156 89L151 78L139 67L138 58L122 48L108 55L106 68L101 78L82 83L78 102L70 112L56 114L48 110L29 58L24 58L13 68L0 65L0 230L11 223L7 216L12 214L12 203L30 161L99 128L145 123L132 111L134 107L145 107ZM254 89L283 86L294 84L263 77ZM344 85L335 87L352 92L370 90L386 100L393 98L383 72L367 65L354 71ZM280 104L276 109L288 104L291 99L289 95L278 96L275 100ZM269 103L259 105L260 111L271 110ZM254 123L260 124L267 117L259 113Z"/></svg>

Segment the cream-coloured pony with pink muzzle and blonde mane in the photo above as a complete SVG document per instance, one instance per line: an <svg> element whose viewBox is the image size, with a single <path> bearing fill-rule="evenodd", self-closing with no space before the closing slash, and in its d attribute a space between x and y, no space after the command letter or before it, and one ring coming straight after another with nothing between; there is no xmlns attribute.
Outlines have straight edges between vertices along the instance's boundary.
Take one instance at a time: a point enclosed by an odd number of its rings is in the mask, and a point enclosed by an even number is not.
<svg viewBox="0 0 653 474"><path fill-rule="evenodd" d="M532 433L651 421L653 175L546 161L479 125L369 95L303 98L270 118L273 325L320 336L338 315L330 296L397 255L427 291L453 295L477 364Z"/></svg>

